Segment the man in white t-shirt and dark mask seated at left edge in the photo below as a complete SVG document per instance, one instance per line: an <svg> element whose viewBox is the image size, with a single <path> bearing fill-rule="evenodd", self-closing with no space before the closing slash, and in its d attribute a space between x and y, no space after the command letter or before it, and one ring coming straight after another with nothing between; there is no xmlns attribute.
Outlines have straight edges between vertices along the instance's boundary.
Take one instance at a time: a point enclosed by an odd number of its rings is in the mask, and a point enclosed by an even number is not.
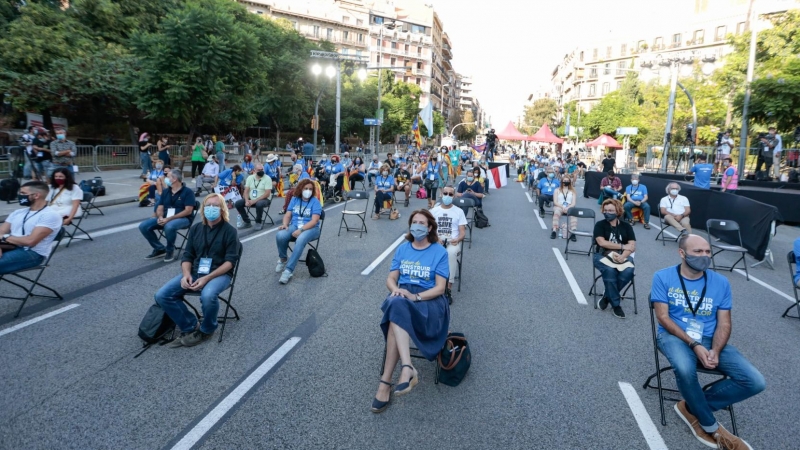
<svg viewBox="0 0 800 450"><path fill-rule="evenodd" d="M50 255L50 244L61 229L61 216L47 206L49 191L41 181L29 181L20 188L17 198L24 208L0 224L0 243L16 246L0 250L0 274L36 267Z"/></svg>

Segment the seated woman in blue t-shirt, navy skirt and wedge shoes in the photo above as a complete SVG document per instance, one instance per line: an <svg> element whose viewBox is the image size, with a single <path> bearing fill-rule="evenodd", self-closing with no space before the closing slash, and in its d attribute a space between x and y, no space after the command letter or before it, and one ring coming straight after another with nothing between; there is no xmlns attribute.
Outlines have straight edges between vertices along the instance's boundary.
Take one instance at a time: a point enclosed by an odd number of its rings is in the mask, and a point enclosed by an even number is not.
<svg viewBox="0 0 800 450"><path fill-rule="evenodd" d="M386 287L389 296L383 301L381 330L386 338L386 362L372 412L389 406L392 373L400 360L400 378L394 395L407 394L419 383L419 374L411 365L411 341L425 358L433 361L447 339L450 307L445 287L450 276L447 250L439 245L436 220L420 209L408 219L409 233L392 259Z"/></svg>

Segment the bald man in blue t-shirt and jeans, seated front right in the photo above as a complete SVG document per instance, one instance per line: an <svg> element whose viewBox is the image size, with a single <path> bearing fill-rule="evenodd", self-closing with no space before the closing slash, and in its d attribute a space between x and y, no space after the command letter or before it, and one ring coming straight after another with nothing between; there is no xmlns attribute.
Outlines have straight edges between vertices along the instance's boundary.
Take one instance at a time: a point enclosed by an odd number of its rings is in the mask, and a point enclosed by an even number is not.
<svg viewBox="0 0 800 450"><path fill-rule="evenodd" d="M730 283L723 275L708 270L711 247L704 238L681 235L678 253L681 263L656 272L650 291L659 323L658 348L672 365L678 391L685 399L675 405L675 412L709 447L750 449L714 417L714 411L748 399L766 387L758 369L728 344ZM698 367L718 370L728 378L703 390L697 380Z"/></svg>

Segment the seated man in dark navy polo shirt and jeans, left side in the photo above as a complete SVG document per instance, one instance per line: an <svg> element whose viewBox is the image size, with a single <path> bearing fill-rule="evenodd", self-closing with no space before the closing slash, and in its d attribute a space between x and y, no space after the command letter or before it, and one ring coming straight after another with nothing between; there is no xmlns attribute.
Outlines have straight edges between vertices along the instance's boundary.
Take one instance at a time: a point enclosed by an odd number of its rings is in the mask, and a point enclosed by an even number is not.
<svg viewBox="0 0 800 450"><path fill-rule="evenodd" d="M175 239L178 230L189 228L192 212L194 211L195 196L191 189L183 185L183 173L172 170L164 179L164 184L169 188L161 193L161 200L153 217L139 224L139 232L153 247L153 252L146 259L164 257L164 262L175 259ZM154 230L164 230L167 245L161 243Z"/></svg>

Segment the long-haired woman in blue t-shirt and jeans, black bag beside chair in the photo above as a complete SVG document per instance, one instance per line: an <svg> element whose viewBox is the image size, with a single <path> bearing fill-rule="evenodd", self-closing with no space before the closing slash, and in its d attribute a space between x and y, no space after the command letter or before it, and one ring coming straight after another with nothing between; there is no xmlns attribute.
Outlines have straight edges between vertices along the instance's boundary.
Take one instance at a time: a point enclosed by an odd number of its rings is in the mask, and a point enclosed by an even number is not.
<svg viewBox="0 0 800 450"><path fill-rule="evenodd" d="M278 245L278 266L275 272L281 274L280 283L286 284L294 274L297 261L303 254L306 244L319 238L319 218L322 215L322 204L314 192L314 182L310 178L300 180L294 188L294 198L289 203L283 224L275 233ZM289 242L296 239L292 256L288 257Z"/></svg>

